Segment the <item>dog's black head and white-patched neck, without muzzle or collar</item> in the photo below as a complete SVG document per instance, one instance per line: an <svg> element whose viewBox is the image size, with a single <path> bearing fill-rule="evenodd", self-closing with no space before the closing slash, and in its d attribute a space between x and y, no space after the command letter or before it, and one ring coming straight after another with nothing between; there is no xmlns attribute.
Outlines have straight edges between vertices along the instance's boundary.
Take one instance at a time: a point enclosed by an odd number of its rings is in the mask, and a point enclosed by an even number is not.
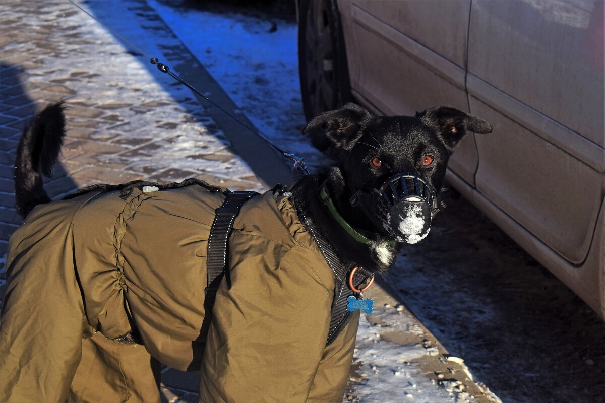
<svg viewBox="0 0 605 403"><path fill-rule="evenodd" d="M344 152L344 158L338 166L303 178L295 184L293 192L312 211L319 230L333 242L339 257L373 272L391 266L401 242L387 246L392 237L368 219L362 209L351 205L353 195L360 190L379 189L385 179L399 172L427 179L439 193L448 159L459 141L469 131L479 134L492 131L485 120L448 106L435 106L417 113L416 117L385 117L348 104L338 111L318 115L303 132L318 127L325 129L327 137ZM324 183L336 210L352 227L367 234L372 241L370 245L361 247L352 237L342 236L341 226L317 197Z"/></svg>

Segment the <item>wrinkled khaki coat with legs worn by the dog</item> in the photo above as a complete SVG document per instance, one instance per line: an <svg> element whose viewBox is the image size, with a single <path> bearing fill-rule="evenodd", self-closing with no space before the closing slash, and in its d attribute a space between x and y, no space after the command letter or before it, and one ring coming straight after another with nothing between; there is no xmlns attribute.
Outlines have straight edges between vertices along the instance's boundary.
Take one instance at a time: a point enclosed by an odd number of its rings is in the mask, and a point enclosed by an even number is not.
<svg viewBox="0 0 605 403"><path fill-rule="evenodd" d="M39 205L11 236L0 401L159 401L159 361L200 370L203 402L341 402L358 314L326 346L334 274L289 196L243 205L232 287L211 311L206 249L224 196L200 182L142 189ZM109 340L132 330L143 346Z"/></svg>

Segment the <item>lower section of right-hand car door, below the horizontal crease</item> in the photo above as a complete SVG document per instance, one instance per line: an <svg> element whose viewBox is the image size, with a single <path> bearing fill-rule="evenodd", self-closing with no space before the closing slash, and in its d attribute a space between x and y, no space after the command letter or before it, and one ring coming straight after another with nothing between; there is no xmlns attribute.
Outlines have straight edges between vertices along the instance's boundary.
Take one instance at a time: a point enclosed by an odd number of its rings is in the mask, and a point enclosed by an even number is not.
<svg viewBox="0 0 605 403"><path fill-rule="evenodd" d="M569 262L585 259L603 199L603 175L518 121L471 97L494 133L477 136L477 190Z"/></svg>

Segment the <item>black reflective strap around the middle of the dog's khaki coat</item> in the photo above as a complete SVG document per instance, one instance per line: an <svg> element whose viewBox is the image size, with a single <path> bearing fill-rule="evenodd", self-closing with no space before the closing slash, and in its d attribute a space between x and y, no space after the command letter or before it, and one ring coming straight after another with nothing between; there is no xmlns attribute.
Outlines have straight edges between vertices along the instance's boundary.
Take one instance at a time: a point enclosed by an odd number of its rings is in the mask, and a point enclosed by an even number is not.
<svg viewBox="0 0 605 403"><path fill-rule="evenodd" d="M212 307L217 295L218 286L223 277L227 286L231 288L231 276L227 265L227 241L233 228L233 223L240 208L250 198L259 195L257 192L230 192L225 196L221 207L215 211L214 221L210 228L208 239L208 254L206 256L206 279L208 286L204 289L205 303Z"/></svg>

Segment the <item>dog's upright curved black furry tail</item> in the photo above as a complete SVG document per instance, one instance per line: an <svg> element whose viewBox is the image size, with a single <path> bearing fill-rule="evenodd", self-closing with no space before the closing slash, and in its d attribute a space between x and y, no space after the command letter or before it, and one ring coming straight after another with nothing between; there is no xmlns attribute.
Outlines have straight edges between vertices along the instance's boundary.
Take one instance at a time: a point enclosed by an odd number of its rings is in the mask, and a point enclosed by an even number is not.
<svg viewBox="0 0 605 403"><path fill-rule="evenodd" d="M25 127L15 157L15 199L17 213L24 218L38 204L50 202L42 173L53 175L65 137L65 106L47 106Z"/></svg>

